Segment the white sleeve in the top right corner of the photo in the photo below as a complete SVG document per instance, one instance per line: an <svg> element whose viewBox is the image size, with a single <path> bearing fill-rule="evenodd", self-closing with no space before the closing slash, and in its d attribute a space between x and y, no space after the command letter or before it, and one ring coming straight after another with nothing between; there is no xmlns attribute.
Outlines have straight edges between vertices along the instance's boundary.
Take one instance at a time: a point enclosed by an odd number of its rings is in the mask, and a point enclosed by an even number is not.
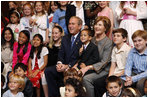
<svg viewBox="0 0 148 98"><path fill-rule="evenodd" d="M137 1L137 19L147 18L147 6L145 1Z"/></svg>

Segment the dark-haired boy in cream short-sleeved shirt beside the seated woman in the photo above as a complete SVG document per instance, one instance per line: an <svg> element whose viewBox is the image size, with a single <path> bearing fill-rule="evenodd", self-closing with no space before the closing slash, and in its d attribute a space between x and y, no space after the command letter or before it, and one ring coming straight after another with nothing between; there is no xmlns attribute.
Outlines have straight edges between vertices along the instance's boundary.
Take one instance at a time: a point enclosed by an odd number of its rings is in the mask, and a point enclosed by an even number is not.
<svg viewBox="0 0 148 98"><path fill-rule="evenodd" d="M115 75L120 77L124 75L126 59L131 49L131 47L126 44L126 39L127 31L125 29L119 28L113 31L113 42L116 46L112 50L109 76Z"/></svg>

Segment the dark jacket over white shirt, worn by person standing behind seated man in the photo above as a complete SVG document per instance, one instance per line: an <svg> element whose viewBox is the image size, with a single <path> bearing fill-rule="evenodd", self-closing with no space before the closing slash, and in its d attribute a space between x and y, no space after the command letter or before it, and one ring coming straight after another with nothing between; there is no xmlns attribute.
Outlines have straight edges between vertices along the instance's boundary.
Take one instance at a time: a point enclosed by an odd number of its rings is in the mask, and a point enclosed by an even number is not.
<svg viewBox="0 0 148 98"><path fill-rule="evenodd" d="M85 3L83 3L83 9L84 9L84 5L85 5ZM85 25L90 27L90 20L86 16L86 11L84 10L84 13L82 13L82 14L84 14ZM69 19L72 16L76 16L76 7L74 5L69 4L66 7L66 15L65 15L67 27L68 27L68 24L69 24Z"/></svg>

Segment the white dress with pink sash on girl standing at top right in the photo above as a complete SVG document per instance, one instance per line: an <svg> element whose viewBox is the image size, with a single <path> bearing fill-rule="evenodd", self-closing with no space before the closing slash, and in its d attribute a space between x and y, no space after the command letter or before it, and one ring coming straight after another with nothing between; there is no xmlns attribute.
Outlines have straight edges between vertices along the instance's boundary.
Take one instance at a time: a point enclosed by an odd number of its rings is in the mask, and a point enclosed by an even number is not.
<svg viewBox="0 0 148 98"><path fill-rule="evenodd" d="M117 6L115 10L117 14L117 18L121 19L119 28L124 28L127 30L129 45L133 47L134 44L132 41L132 35L137 30L144 30L142 22L139 19L142 19L146 16L145 11L147 7L144 1L137 1L136 8L133 7L133 4L131 4L130 1L127 1L125 2L125 5L123 8L130 8L132 11L137 12L137 16L125 14L120 18L120 14L122 12L120 5Z"/></svg>

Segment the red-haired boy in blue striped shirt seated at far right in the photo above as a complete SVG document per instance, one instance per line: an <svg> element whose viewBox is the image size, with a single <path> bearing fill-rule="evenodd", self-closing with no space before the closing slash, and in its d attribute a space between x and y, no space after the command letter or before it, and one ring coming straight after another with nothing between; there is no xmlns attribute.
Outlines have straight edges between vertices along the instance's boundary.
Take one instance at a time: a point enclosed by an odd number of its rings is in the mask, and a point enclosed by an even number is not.
<svg viewBox="0 0 148 98"><path fill-rule="evenodd" d="M124 85L136 85L136 88L141 92L143 91L144 78L147 78L147 32L137 30L132 35L132 40L135 47L128 54Z"/></svg>

